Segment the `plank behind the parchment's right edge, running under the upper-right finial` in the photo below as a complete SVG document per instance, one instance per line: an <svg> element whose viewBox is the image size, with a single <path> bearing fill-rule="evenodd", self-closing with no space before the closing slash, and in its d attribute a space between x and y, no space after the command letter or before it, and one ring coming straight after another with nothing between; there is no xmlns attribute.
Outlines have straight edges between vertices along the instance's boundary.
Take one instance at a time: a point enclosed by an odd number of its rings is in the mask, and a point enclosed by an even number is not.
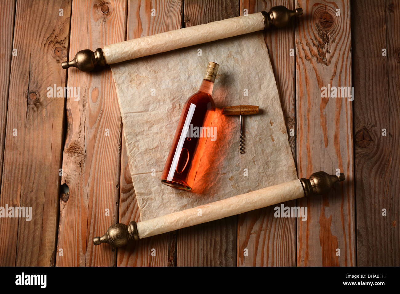
<svg viewBox="0 0 400 294"><path fill-rule="evenodd" d="M273 6L284 5L294 9L294 0L240 2L240 14L269 11ZM265 33L266 44L276 85L284 112L288 134L296 130L294 21L287 27ZM296 136L288 137L296 159ZM296 206L296 201L284 202ZM274 207L254 210L238 216L238 266L295 266L296 218L274 218ZM247 256L244 250L247 249Z"/></svg>

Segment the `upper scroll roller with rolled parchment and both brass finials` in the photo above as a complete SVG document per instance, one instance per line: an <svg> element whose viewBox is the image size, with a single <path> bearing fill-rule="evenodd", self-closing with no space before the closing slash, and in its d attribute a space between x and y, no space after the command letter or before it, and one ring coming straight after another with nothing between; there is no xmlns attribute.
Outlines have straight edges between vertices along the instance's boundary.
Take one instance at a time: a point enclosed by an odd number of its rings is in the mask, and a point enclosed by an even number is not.
<svg viewBox="0 0 400 294"><path fill-rule="evenodd" d="M270 26L284 27L293 16L302 14L301 8L288 10L285 6L275 6L268 13L257 12L127 40L104 46L104 49L98 48L94 52L88 49L81 50L74 59L64 61L61 65L64 69L76 67L87 72L98 66L248 34L268 29Z"/></svg>

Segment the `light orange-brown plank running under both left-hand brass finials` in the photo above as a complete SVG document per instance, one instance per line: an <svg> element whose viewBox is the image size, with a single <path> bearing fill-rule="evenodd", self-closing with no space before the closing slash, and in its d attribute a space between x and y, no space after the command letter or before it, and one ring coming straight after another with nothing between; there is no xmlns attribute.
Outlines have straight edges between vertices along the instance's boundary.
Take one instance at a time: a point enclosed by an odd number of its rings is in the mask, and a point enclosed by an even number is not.
<svg viewBox="0 0 400 294"><path fill-rule="evenodd" d="M70 59L79 50L124 41L126 4L74 1ZM66 103L62 183L69 187L69 197L60 199L56 265L112 266L116 250L94 246L92 238L118 221L122 124L115 84L110 68L89 73L70 68L68 86L79 87L80 99Z"/></svg>

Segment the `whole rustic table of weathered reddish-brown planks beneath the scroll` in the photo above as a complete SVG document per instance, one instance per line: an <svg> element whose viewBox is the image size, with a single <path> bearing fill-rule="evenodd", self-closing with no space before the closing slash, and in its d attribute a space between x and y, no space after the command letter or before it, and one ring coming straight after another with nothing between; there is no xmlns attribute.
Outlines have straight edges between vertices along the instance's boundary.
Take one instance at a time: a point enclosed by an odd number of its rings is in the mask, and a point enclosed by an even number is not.
<svg viewBox="0 0 400 294"><path fill-rule="evenodd" d="M139 212L110 69L88 74L61 62L81 49L276 5L304 10L288 28L265 34L298 175L340 169L346 182L286 203L308 206L307 221L274 218L269 207L118 251L94 246L94 236L138 221ZM32 206L33 215L0 218L1 265L400 265L400 1L6 0L2 7L0 206ZM328 84L354 86L354 101L321 98ZM80 87L80 100L49 98L54 85Z"/></svg>

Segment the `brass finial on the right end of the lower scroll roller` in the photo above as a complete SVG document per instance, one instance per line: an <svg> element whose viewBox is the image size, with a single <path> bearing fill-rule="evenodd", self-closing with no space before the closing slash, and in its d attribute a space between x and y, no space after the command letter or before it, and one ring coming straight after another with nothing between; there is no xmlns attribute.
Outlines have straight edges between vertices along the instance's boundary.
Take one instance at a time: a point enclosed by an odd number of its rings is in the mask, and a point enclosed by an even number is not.
<svg viewBox="0 0 400 294"><path fill-rule="evenodd" d="M311 195L324 195L333 187L336 182L345 180L343 173L339 176L332 176L326 172L314 172L310 178L301 178L300 182L303 185L304 197Z"/></svg>

